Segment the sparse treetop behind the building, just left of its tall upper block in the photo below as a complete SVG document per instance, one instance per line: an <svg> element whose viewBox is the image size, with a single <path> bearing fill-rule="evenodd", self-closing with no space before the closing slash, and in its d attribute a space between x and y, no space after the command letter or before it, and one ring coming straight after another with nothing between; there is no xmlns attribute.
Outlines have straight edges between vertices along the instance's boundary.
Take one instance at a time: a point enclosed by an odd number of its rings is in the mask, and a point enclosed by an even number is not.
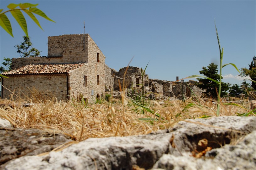
<svg viewBox="0 0 256 170"><path fill-rule="evenodd" d="M16 53L19 53L19 55L22 58L39 56L40 51L32 47L30 37L26 35L22 37L23 37L23 42L20 45L15 45L15 47L17 48Z"/></svg>

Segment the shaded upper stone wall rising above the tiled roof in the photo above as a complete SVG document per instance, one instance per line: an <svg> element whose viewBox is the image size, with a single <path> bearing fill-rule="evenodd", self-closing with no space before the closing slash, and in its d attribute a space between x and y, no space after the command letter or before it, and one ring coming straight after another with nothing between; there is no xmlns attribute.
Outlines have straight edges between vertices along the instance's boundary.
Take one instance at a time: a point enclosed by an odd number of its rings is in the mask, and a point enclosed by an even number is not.
<svg viewBox="0 0 256 170"><path fill-rule="evenodd" d="M13 58L12 69L29 64L86 63L88 62L89 39L91 39L89 34L48 37L47 57Z"/></svg>

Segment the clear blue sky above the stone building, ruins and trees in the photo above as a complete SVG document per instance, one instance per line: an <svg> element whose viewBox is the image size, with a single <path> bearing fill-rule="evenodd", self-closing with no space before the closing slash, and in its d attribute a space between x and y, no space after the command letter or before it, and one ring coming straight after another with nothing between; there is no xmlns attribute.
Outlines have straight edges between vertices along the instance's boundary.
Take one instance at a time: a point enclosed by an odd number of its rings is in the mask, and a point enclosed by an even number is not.
<svg viewBox="0 0 256 170"><path fill-rule="evenodd" d="M106 64L119 70L127 66L145 68L151 79L175 81L199 75L211 62L219 65L216 21L223 64L247 67L256 55L256 1L12 1L38 3L37 8L56 23L36 16L42 31L26 14L33 46L47 56L47 37L89 33L106 56ZM14 45L25 33L8 13L14 38L0 28L0 63L3 57L18 58ZM239 73L231 65L223 68L223 81L239 84ZM233 77L233 78L232 78Z"/></svg>

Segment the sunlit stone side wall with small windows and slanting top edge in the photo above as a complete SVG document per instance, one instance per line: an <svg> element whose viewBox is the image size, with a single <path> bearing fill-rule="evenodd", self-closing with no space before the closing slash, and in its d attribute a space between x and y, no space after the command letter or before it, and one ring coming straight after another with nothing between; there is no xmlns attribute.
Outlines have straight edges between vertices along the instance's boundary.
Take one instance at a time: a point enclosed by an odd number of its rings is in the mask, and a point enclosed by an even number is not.
<svg viewBox="0 0 256 170"><path fill-rule="evenodd" d="M69 93L72 98L79 98L82 95L89 103L93 103L97 96L105 95L105 56L90 36L88 36L87 44L88 63L69 73ZM86 87L84 76L87 76Z"/></svg>

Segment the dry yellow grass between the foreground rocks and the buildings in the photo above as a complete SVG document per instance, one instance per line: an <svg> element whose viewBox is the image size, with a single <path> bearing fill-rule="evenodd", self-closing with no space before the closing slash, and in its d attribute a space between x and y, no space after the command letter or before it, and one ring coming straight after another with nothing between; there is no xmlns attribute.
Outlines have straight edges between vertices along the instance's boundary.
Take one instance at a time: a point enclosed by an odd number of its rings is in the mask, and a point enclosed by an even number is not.
<svg viewBox="0 0 256 170"><path fill-rule="evenodd" d="M89 137L111 137L148 134L166 129L178 121L202 116L216 116L217 106L211 100L189 98L161 102L151 101L150 109L161 117L135 110L133 103L124 98L110 99L101 104L84 105L77 101L47 100L30 106L24 100L0 100L0 117L10 121L16 128L39 128L63 133L75 141ZM242 104L248 109L248 101ZM221 105L221 116L248 112L244 108ZM152 118L150 121L141 118ZM158 119L156 119L158 118Z"/></svg>

